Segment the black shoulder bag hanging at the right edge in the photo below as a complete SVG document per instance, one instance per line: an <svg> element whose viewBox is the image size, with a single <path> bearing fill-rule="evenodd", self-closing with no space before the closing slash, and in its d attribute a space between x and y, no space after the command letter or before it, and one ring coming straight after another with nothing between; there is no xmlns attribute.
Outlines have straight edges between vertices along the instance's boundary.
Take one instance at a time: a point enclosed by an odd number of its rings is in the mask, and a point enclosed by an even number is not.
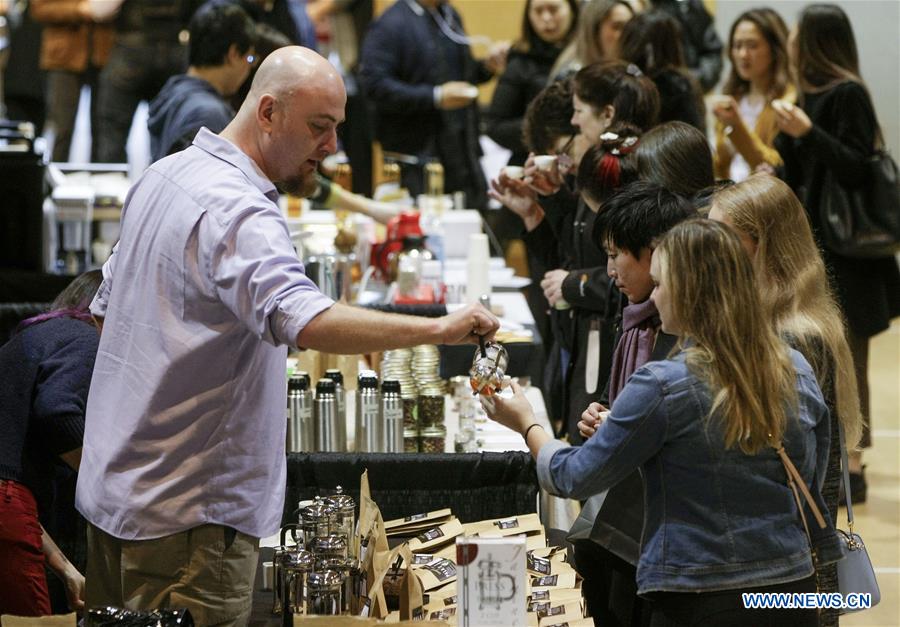
<svg viewBox="0 0 900 627"><path fill-rule="evenodd" d="M897 164L883 150L866 161L861 184L848 188L825 169L819 203L825 246L854 258L889 257L900 251Z"/></svg>

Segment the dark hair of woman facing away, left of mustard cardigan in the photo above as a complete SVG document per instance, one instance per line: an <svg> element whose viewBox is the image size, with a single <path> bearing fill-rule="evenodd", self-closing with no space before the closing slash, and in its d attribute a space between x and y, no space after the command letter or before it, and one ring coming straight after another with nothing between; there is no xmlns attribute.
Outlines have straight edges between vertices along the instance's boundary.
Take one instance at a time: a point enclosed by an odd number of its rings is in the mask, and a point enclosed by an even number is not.
<svg viewBox="0 0 900 627"><path fill-rule="evenodd" d="M685 70L681 24L663 10L635 15L622 30L619 58L651 78L662 70Z"/></svg>

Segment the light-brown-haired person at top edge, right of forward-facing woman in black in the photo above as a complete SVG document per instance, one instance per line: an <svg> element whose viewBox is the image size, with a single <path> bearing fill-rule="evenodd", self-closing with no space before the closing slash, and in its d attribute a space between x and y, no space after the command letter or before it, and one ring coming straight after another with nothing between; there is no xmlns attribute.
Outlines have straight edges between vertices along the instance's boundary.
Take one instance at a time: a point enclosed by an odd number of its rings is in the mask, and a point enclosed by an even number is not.
<svg viewBox="0 0 900 627"><path fill-rule="evenodd" d="M550 69L550 79L570 78L578 70L601 61L615 61L619 54L619 36L634 17L624 0L583 2L575 25L575 36Z"/></svg>

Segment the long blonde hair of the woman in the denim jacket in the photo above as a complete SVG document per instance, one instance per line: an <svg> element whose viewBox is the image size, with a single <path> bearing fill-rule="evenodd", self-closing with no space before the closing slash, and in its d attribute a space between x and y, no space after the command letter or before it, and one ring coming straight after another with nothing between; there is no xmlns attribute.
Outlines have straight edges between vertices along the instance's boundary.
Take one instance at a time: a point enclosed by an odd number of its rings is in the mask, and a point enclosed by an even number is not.
<svg viewBox="0 0 900 627"><path fill-rule="evenodd" d="M753 455L779 443L796 410L796 372L759 302L753 267L733 229L711 220L673 227L654 257L688 368L713 394L709 416L725 447Z"/></svg>

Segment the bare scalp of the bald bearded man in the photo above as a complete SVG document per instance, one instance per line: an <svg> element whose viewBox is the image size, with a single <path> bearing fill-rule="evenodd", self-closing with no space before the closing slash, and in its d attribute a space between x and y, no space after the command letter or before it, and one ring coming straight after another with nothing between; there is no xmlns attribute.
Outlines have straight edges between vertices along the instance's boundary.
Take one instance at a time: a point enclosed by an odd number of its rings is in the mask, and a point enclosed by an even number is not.
<svg viewBox="0 0 900 627"><path fill-rule="evenodd" d="M287 101L297 94L314 96L331 90L345 93L344 81L331 63L309 48L286 46L275 50L259 66L244 106L249 103L255 108L265 94Z"/></svg>

